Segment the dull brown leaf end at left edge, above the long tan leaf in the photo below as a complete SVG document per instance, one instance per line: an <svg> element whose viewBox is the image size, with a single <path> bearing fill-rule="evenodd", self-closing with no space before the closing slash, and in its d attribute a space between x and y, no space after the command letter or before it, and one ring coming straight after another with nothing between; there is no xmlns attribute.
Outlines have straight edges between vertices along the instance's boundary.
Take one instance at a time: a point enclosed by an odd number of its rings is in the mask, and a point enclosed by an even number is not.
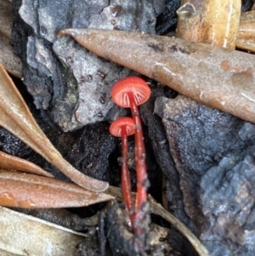
<svg viewBox="0 0 255 256"><path fill-rule="evenodd" d="M14 48L9 40L0 33L0 63L14 77L21 78L22 64L18 56L14 54Z"/></svg>

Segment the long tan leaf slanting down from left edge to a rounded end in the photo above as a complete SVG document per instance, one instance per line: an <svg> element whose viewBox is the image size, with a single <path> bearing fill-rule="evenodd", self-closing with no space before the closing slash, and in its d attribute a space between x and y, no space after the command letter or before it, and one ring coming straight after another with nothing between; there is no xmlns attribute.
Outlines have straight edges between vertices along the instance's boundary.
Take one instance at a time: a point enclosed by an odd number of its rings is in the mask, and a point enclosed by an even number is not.
<svg viewBox="0 0 255 256"><path fill-rule="evenodd" d="M77 185L94 192L102 192L107 189L107 182L82 174L61 156L37 125L20 92L1 64L0 90L0 126L31 146L34 151L59 168Z"/></svg>

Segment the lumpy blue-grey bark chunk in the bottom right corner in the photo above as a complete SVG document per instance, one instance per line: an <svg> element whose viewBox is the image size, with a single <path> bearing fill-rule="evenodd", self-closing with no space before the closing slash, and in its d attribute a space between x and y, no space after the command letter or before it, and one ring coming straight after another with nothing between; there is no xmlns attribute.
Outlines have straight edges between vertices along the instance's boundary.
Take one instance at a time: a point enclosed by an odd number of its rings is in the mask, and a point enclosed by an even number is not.
<svg viewBox="0 0 255 256"><path fill-rule="evenodd" d="M239 158L224 157L201 179L202 212L209 224L201 240L213 255L220 255L214 253L219 249L221 255L255 253L255 158Z"/></svg>

